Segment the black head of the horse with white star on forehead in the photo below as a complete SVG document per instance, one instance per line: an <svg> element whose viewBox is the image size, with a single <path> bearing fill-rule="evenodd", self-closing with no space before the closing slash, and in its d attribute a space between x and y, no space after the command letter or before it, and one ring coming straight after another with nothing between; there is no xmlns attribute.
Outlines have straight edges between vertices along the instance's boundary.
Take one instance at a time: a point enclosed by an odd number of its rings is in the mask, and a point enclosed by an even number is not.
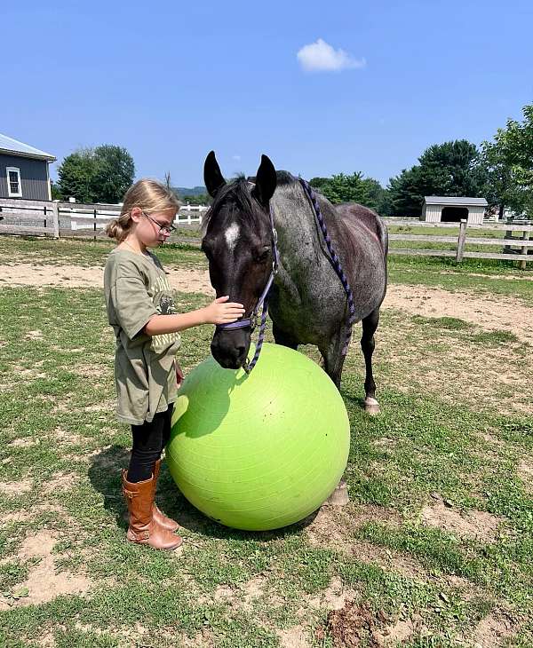
<svg viewBox="0 0 533 648"><path fill-rule="evenodd" d="M261 156L254 182L222 177L213 151L203 166L207 191L213 198L205 217L202 249L209 261L211 285L217 296L229 295L240 302L248 319L258 304L273 267L273 233L269 202L274 194L274 165ZM211 342L211 353L219 365L243 367L250 348L251 326L220 328Z"/></svg>

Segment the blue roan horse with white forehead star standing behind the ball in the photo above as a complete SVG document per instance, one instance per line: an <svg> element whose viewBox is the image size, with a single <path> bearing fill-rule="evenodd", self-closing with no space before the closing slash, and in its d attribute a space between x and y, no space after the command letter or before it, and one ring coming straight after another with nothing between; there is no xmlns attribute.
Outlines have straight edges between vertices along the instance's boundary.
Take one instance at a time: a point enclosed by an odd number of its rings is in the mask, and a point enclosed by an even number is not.
<svg viewBox="0 0 533 648"><path fill-rule="evenodd" d="M217 296L256 306L273 265L272 209L278 236L279 267L270 291L269 314L274 339L296 349L315 344L324 369L339 387L346 338L351 333L346 293L334 270L314 208L304 187L286 171L275 171L266 155L255 178L227 183L214 152L203 176L213 198L203 226L202 249ZM374 332L386 294L386 227L371 209L355 203L335 208L317 194L323 220L354 296L354 320L362 321L361 346L366 364L365 409L379 411L372 376ZM218 328L211 352L222 367L242 367L251 328ZM343 352L344 350L344 352Z"/></svg>

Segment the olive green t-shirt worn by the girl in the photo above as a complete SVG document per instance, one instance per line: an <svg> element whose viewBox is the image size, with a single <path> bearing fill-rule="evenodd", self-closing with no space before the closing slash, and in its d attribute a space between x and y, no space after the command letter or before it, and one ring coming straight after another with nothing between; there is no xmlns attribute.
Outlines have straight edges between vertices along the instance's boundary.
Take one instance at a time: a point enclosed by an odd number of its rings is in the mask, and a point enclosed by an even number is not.
<svg viewBox="0 0 533 648"><path fill-rule="evenodd" d="M114 249L104 273L107 319L115 331L116 415L142 425L177 398L178 333L147 336L154 315L175 313L172 291L154 254Z"/></svg>

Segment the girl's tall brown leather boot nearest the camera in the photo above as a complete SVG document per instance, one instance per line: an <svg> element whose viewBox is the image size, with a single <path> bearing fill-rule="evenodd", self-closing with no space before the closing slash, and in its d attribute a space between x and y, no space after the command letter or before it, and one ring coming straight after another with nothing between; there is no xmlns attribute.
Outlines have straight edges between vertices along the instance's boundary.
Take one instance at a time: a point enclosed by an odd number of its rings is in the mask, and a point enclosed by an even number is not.
<svg viewBox="0 0 533 648"><path fill-rule="evenodd" d="M123 494L126 498L130 513L130 526L127 538L131 542L146 544L154 549L177 549L182 540L168 529L155 524L152 513L154 503L154 476L137 484L127 479L127 471L123 470Z"/></svg>

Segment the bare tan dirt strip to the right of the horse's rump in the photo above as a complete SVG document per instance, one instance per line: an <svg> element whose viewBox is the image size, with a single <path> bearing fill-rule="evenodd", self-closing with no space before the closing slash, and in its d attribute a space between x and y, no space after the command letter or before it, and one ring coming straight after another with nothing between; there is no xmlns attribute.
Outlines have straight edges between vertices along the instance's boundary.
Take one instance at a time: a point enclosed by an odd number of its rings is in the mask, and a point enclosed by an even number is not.
<svg viewBox="0 0 533 648"><path fill-rule="evenodd" d="M442 288L390 285L384 308L396 308L423 317L454 317L486 330L507 330L520 340L533 343L533 331L523 326L533 321L533 308L518 299L490 299L473 292L450 292Z"/></svg>

